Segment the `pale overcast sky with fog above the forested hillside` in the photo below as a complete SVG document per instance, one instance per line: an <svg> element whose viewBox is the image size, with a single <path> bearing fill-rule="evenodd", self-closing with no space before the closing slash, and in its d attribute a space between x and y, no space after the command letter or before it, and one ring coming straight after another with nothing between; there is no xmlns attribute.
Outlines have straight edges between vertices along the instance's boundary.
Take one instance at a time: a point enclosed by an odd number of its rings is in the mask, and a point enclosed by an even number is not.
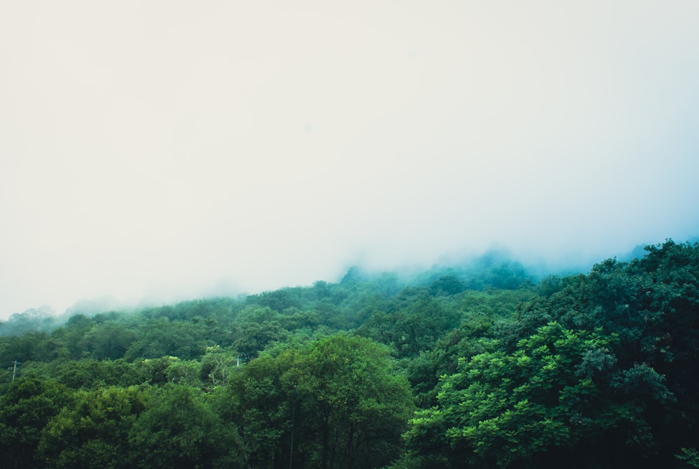
<svg viewBox="0 0 699 469"><path fill-rule="evenodd" d="M696 0L0 6L0 318L699 234Z"/></svg>

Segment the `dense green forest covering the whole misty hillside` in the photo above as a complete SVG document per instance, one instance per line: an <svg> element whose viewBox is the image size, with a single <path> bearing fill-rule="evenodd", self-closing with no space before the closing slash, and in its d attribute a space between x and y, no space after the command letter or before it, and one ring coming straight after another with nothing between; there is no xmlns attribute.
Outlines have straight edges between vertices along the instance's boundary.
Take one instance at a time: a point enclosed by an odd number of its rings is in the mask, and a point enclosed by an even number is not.
<svg viewBox="0 0 699 469"><path fill-rule="evenodd" d="M0 323L0 466L697 468L699 244Z"/></svg>

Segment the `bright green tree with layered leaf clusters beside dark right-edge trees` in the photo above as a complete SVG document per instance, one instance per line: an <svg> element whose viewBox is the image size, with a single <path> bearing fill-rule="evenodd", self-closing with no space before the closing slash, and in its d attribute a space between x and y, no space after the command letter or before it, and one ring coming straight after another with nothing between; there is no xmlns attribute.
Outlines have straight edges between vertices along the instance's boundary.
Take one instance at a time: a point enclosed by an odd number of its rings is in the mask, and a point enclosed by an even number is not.
<svg viewBox="0 0 699 469"><path fill-rule="evenodd" d="M487 343L489 351L461 360L442 379L438 405L411 420L410 447L454 465L507 468L545 466L560 457L556 449L600 438L631 415L629 405L605 394L616 362L611 341L552 322L511 355Z"/></svg>

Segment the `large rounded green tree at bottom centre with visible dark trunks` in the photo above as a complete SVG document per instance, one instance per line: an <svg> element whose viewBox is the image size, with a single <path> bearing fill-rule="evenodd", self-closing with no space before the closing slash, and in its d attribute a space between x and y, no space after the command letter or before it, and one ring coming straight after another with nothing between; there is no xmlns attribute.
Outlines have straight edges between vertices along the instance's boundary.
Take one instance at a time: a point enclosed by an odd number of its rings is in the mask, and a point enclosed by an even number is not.
<svg viewBox="0 0 699 469"><path fill-rule="evenodd" d="M366 338L269 352L231 376L231 415L255 468L380 467L402 449L408 382Z"/></svg>

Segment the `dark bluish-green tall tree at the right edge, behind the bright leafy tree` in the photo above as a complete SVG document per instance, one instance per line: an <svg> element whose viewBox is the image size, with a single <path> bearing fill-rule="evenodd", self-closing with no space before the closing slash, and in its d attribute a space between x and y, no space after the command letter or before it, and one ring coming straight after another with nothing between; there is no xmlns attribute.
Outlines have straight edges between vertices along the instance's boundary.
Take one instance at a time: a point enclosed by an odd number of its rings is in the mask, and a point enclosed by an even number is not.
<svg viewBox="0 0 699 469"><path fill-rule="evenodd" d="M666 463L698 438L699 244L668 240L645 250L642 258L605 260L588 275L562 278L556 292L523 304L503 329L503 348L512 352L549 321L614 334L619 372L610 385L614 399L634 403L635 417L605 441Z"/></svg>

